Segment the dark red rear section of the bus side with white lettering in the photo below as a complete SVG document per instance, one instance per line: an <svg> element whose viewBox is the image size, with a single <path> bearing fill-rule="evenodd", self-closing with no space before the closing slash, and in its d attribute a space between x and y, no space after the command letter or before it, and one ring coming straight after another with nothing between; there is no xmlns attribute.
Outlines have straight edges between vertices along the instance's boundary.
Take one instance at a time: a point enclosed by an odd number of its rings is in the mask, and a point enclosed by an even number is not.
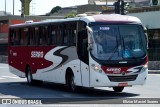
<svg viewBox="0 0 160 107"><path fill-rule="evenodd" d="M45 68L52 64L43 58L44 54L51 48L53 47L13 47L9 49L9 64L21 72L25 72L28 64L35 73L37 68Z"/></svg>

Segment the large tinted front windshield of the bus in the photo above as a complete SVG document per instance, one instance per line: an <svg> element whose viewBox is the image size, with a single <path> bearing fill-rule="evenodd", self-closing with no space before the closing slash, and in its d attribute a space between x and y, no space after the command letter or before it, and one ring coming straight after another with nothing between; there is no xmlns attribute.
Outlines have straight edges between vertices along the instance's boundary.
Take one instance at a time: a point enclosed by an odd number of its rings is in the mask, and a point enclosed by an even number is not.
<svg viewBox="0 0 160 107"><path fill-rule="evenodd" d="M140 25L92 26L91 54L98 60L129 60L145 57L146 40Z"/></svg>

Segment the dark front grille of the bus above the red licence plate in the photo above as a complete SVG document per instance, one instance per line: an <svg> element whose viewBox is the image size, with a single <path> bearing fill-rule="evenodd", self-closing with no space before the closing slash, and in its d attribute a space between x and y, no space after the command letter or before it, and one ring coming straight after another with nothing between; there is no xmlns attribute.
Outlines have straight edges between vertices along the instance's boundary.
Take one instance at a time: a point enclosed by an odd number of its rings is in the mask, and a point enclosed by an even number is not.
<svg viewBox="0 0 160 107"><path fill-rule="evenodd" d="M136 80L138 75L129 75L129 76L108 76L109 80L112 82L126 82Z"/></svg>

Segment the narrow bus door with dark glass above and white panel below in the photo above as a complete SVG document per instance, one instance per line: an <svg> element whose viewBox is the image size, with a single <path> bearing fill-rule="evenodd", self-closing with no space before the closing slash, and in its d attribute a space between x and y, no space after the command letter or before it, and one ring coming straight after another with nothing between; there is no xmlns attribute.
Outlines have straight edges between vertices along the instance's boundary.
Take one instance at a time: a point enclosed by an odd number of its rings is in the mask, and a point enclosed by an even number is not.
<svg viewBox="0 0 160 107"><path fill-rule="evenodd" d="M88 39L87 30L78 32L78 56L80 59L80 71L82 76L82 85L89 87L89 60L88 60Z"/></svg>

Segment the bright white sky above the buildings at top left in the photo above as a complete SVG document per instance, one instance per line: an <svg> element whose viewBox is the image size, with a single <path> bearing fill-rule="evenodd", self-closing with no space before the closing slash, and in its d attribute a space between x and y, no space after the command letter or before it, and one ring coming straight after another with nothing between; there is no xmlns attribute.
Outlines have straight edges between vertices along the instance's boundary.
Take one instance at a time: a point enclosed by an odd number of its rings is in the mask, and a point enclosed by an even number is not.
<svg viewBox="0 0 160 107"><path fill-rule="evenodd" d="M20 15L21 2L14 0L14 14ZM32 0L30 3L30 15L43 15L51 11L55 6L69 7L88 4L88 0ZM0 11L5 11L5 0L0 0ZM13 14L13 0L6 0L6 11Z"/></svg>

